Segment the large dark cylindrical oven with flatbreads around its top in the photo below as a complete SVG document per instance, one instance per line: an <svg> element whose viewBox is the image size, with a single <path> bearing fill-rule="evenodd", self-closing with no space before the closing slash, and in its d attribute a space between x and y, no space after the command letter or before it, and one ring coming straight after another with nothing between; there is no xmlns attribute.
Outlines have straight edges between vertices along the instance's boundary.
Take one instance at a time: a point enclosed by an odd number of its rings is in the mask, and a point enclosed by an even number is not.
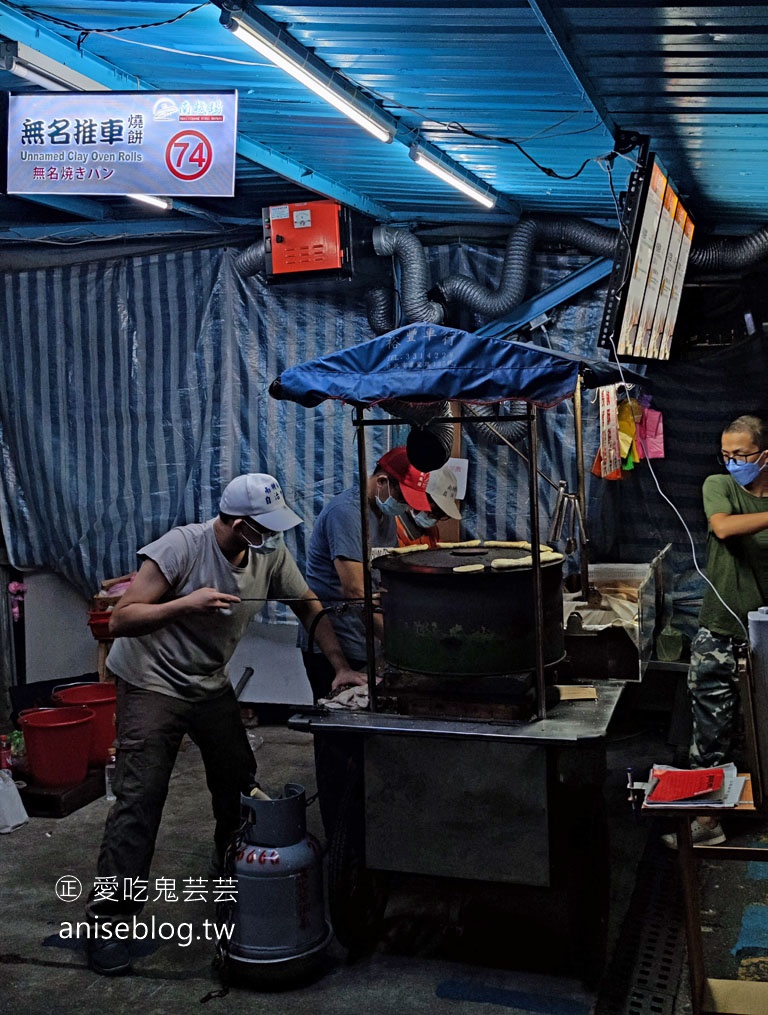
<svg viewBox="0 0 768 1015"><path fill-rule="evenodd" d="M381 571L383 655L390 666L441 676L536 668L530 550L490 545L438 548L390 553L377 557L373 566ZM560 554L544 554L545 666L564 655L562 566Z"/></svg>

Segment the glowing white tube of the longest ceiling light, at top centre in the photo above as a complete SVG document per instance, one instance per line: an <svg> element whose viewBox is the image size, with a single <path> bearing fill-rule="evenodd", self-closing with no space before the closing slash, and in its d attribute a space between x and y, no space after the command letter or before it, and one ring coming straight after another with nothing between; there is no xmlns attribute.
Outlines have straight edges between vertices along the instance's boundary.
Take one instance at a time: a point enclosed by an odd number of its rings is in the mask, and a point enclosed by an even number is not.
<svg viewBox="0 0 768 1015"><path fill-rule="evenodd" d="M331 81L333 72L330 69L327 79L324 80L323 72L309 63L308 54L302 59L299 54L291 52L288 46L281 42L279 35L272 36L266 27L247 22L239 16L232 16L227 27L237 39L348 116L377 140L387 144L392 141L395 136L394 127L385 124L383 118L376 118L375 113L366 109L362 103L356 101L353 95L345 94L343 88L334 87Z"/></svg>

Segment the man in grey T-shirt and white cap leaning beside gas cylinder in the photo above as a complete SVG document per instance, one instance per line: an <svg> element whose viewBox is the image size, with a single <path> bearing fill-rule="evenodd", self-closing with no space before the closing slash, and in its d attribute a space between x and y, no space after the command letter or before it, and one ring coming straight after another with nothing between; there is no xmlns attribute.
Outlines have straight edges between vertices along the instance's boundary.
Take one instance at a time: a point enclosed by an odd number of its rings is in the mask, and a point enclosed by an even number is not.
<svg viewBox="0 0 768 1015"><path fill-rule="evenodd" d="M125 940L111 935L143 905L126 885L148 884L168 782L185 734L200 748L216 820L216 861L240 824L239 795L254 784L256 760L240 719L227 663L267 600L286 602L308 627L322 607L301 577L282 533L301 519L273 476L237 476L219 515L180 526L139 550L135 580L116 605L110 676L117 682L117 800L107 818L91 921L91 968L130 971ZM337 686L353 673L328 619L316 642Z"/></svg>

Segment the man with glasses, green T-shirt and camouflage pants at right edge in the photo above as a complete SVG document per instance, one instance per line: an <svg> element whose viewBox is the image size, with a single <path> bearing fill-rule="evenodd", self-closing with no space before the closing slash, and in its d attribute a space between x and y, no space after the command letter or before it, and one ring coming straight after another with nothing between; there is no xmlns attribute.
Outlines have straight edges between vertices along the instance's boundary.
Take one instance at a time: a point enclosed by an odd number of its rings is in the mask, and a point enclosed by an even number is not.
<svg viewBox="0 0 768 1015"><path fill-rule="evenodd" d="M688 688L693 709L689 760L708 768L731 760L739 717L735 642L748 641L750 611L768 604L768 427L757 416L740 416L720 439L726 475L704 480L707 580L699 629L691 645ZM694 841L716 845L722 827L700 817ZM674 835L664 836L676 845Z"/></svg>

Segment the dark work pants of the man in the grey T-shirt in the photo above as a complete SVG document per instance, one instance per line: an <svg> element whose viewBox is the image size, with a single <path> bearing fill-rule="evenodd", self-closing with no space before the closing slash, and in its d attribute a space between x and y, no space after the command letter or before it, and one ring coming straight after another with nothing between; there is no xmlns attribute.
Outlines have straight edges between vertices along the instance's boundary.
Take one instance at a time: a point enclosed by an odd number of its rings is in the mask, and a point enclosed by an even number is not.
<svg viewBox="0 0 768 1015"><path fill-rule="evenodd" d="M123 900L124 879L147 881L179 746L185 733L200 748L216 820L219 859L240 825L240 792L248 793L256 759L231 688L202 701L143 690L117 680L116 802L98 855L99 878L117 877L114 897L92 893L91 916L130 916L143 903ZM150 896L151 897L151 896Z"/></svg>

